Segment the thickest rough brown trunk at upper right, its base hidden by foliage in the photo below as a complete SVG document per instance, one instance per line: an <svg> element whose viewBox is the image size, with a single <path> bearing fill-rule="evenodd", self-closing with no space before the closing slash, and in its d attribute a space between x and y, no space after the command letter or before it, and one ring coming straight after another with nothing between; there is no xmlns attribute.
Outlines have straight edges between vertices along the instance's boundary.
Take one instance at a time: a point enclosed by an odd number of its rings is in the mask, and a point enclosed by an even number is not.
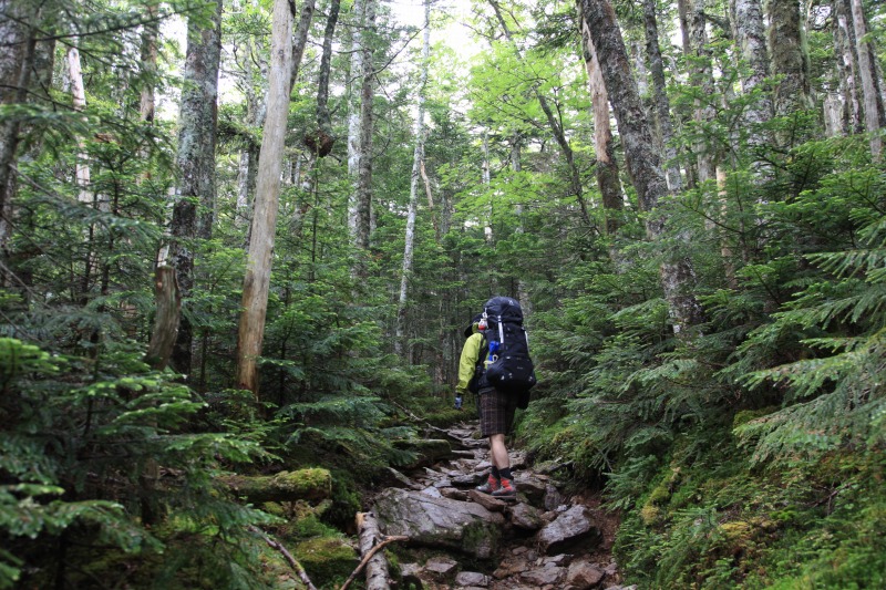
<svg viewBox="0 0 886 590"><path fill-rule="evenodd" d="M781 77L773 99L777 116L789 116L810 104L810 84L803 56L800 3L769 0L769 48L772 73ZM780 143L786 142L780 137Z"/></svg>

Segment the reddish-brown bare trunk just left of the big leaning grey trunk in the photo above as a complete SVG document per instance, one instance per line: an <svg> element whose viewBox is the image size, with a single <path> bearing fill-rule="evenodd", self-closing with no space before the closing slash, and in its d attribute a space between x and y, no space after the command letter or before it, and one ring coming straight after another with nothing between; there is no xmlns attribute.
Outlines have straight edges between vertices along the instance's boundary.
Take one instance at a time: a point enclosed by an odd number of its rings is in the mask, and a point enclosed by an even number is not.
<svg viewBox="0 0 886 590"><path fill-rule="evenodd" d="M579 17L581 15L581 2L577 2ZM594 112L594 151L597 155L596 178L597 187L602 197L602 208L606 215L605 231L614 235L618 231L621 224L621 210L625 208L621 196L621 178L618 176L618 163L616 162L616 151L612 145L612 126L609 121L609 95L606 92L606 84L600 73L600 64L594 51L594 43L590 40L585 19L581 23L581 50L585 60L585 70L588 73L588 86L590 89L590 103Z"/></svg>

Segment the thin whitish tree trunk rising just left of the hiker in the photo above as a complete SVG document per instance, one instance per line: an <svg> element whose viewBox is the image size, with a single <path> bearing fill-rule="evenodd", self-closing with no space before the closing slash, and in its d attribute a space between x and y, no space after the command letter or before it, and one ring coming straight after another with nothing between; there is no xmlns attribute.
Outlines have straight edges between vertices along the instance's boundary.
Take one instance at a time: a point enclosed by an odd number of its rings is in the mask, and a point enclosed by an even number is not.
<svg viewBox="0 0 886 590"><path fill-rule="evenodd" d="M409 187L409 213L406 214L405 246L403 248L403 271L400 276L400 300L396 306L396 334L394 352L403 354L404 327L406 324L406 301L409 280L412 275L412 253L415 244L415 217L419 209L419 182L424 159L424 87L427 84L427 62L431 58L431 0L424 0L424 35L422 39L421 79L419 81L418 113L415 115L415 151L412 155L412 178Z"/></svg>

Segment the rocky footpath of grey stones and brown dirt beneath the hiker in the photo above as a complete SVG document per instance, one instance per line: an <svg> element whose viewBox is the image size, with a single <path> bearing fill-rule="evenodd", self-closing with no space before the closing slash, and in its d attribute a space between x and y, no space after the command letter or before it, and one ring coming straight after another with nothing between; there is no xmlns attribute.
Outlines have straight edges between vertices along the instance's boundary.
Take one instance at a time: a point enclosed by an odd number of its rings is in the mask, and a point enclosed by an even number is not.
<svg viewBox="0 0 886 590"><path fill-rule="evenodd" d="M616 518L594 496L566 496L556 478L562 465L528 465L512 451L517 500L474 489L491 468L477 431L476 423L437 429L451 448L445 458L392 470L395 484L362 515L363 555L382 539L422 548L415 562L400 563L395 586L405 589L632 589L620 586L610 555ZM383 556L368 560L369 590L391 586Z"/></svg>

